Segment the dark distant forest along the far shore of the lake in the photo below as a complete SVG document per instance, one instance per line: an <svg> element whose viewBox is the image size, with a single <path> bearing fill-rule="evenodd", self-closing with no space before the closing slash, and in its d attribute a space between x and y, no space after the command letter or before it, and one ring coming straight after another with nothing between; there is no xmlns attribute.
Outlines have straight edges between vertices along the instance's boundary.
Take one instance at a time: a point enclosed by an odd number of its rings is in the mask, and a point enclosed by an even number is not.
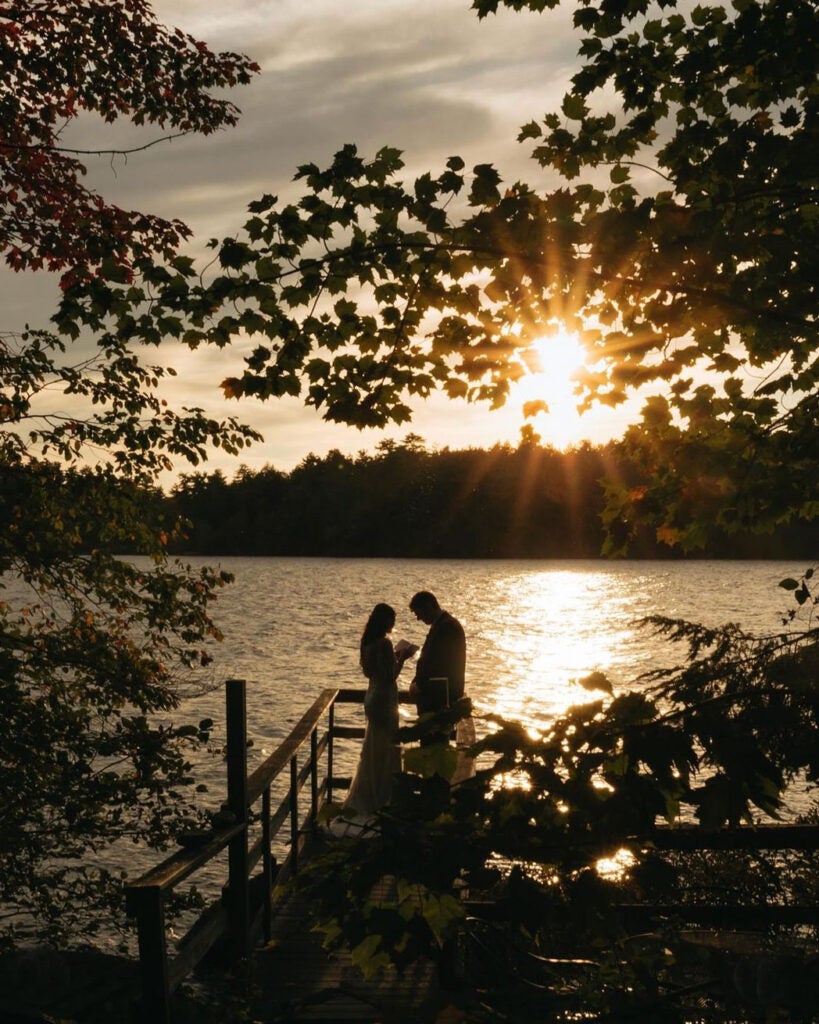
<svg viewBox="0 0 819 1024"><path fill-rule="evenodd" d="M429 451L410 434L374 455L307 456L291 472L184 475L162 499L187 520L178 554L595 558L605 488L640 481L616 443ZM615 528L617 524L614 524ZM717 540L701 557L814 558L815 524ZM638 558L680 557L638 537Z"/></svg>

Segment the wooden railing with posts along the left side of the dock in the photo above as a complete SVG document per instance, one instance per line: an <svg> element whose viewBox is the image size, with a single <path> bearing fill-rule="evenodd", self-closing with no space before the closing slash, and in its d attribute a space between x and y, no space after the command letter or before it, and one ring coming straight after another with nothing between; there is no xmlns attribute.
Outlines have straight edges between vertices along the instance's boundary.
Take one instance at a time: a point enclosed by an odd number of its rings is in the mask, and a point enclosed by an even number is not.
<svg viewBox="0 0 819 1024"><path fill-rule="evenodd" d="M225 817L230 823L204 836L202 845L180 849L126 887L126 908L136 919L139 944L140 1021L170 1024L173 992L218 941L226 942L230 959L247 956L259 938L269 941L276 890L298 871L310 825L332 799L334 786L347 783L334 777L335 740L363 736L362 727L336 723L336 705L362 703L363 696L363 690L322 690L279 746L248 775L246 685L240 679L226 682ZM285 772L287 793L273 808L271 788ZM308 782L308 799L302 800ZM261 834L251 845L250 824L259 803ZM276 864L272 846L283 829L289 830L289 852ZM222 898L204 911L171 956L165 920L169 897L225 849L227 884ZM252 878L260 861L261 871Z"/></svg>

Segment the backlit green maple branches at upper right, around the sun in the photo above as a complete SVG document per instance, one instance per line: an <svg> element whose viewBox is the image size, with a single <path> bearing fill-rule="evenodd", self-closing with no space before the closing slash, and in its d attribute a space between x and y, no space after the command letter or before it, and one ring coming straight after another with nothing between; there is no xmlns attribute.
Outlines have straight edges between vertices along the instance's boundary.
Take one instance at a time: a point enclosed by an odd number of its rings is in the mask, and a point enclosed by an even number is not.
<svg viewBox="0 0 819 1024"><path fill-rule="evenodd" d="M641 524L700 547L715 510L720 529L811 520L816 17L807 0L584 0L571 89L520 136L560 187L458 157L404 182L397 150L346 145L299 168L299 200L251 204L214 241L212 278L144 262L135 291L70 290L60 324L148 341L165 325L190 345L244 333L258 344L228 396L304 394L361 427L404 422L438 388L500 404L573 331L584 407L647 396L630 432L646 482L610 495L612 551ZM606 88L621 106L593 114Z"/></svg>

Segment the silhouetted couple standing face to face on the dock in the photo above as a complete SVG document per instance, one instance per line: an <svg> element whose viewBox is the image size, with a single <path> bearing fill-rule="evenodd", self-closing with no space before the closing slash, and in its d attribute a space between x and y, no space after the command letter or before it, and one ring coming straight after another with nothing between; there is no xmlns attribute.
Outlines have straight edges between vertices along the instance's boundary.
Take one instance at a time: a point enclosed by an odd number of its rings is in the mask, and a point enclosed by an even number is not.
<svg viewBox="0 0 819 1024"><path fill-rule="evenodd" d="M466 637L461 623L441 608L427 590L419 591L410 601L416 618L429 627L421 647L410 696L419 715L447 708L464 695ZM358 767L344 807L356 814L369 815L380 810L390 799L392 779L401 770L398 743L398 674L418 646L405 640L393 646L390 634L395 628L395 609L377 604L361 634L360 666L368 678L364 696L367 729ZM432 735L422 744L434 742Z"/></svg>

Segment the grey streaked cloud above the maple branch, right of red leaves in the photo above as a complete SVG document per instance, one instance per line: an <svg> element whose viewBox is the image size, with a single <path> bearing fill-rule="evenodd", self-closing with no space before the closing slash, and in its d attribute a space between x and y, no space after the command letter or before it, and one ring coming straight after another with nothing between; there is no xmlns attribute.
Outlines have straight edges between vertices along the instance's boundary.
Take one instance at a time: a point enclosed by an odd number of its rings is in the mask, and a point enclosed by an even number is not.
<svg viewBox="0 0 819 1024"><path fill-rule="evenodd" d="M398 146L411 172L458 153L518 176L530 161L517 129L559 101L576 49L565 12L479 23L464 0L242 0L229 16L201 2L161 0L155 8L214 47L249 53L262 74L230 93L243 110L236 128L177 139L127 163L89 158L89 181L115 202L181 216L206 233L227 229L259 190L287 191L298 164L327 162L345 142L363 153ZM83 119L70 138L114 147L156 136Z"/></svg>

